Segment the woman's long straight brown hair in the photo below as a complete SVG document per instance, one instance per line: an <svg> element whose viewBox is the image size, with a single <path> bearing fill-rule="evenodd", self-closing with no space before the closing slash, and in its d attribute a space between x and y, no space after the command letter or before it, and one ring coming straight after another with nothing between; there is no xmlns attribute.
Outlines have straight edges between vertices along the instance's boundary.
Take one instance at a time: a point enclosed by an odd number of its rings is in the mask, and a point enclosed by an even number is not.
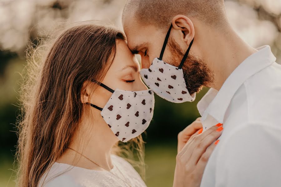
<svg viewBox="0 0 281 187"><path fill-rule="evenodd" d="M86 80L104 78L118 39L125 38L115 28L88 23L66 29L50 47L43 43L27 51L27 76L20 98L22 118L18 124L17 186L37 187L66 150L85 112L82 85ZM47 55L42 56L46 50ZM141 137L133 141L142 152Z"/></svg>

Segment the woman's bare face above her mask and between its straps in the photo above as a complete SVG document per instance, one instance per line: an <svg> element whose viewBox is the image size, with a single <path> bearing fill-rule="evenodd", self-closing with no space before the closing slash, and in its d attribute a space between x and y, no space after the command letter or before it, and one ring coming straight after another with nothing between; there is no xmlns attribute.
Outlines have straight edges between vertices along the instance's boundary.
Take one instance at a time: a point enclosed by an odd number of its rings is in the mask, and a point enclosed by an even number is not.
<svg viewBox="0 0 281 187"><path fill-rule="evenodd" d="M102 83L113 90L145 90L147 87L141 80L139 70L140 65L136 56L132 54L126 42L117 40L115 58ZM111 95L111 92L98 86L90 100L92 104L103 108Z"/></svg>

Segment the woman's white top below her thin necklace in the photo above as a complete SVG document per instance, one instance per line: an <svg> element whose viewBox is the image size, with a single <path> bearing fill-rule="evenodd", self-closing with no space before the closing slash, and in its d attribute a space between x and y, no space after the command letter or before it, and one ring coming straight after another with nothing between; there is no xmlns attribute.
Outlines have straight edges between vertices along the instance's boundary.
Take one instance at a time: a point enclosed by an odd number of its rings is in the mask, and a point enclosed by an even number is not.
<svg viewBox="0 0 281 187"><path fill-rule="evenodd" d="M55 162L47 175L44 187L145 187L144 181L136 170L123 158L111 155L114 167L111 171L88 170L68 164ZM67 171L67 172L65 172ZM65 173L63 173L65 172ZM63 173L62 175L59 175ZM115 175L120 177L116 177ZM59 175L55 178L53 176ZM53 179L52 179L53 178ZM42 178L43 179L43 178ZM51 179L51 180L49 180ZM49 182L48 182L49 180ZM129 185L127 185L125 180ZM41 181L42 182L42 181ZM47 183L46 183L47 182ZM42 183L39 185L42 186Z"/></svg>

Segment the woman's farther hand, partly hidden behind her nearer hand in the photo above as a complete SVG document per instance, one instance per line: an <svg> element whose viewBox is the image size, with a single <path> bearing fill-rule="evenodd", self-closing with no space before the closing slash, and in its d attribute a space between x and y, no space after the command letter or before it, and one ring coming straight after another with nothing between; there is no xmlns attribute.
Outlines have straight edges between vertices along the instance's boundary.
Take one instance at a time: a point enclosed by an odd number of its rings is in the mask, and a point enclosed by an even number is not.
<svg viewBox="0 0 281 187"><path fill-rule="evenodd" d="M202 132L203 129L200 118L201 117L198 117L193 123L185 127L185 129L178 134L178 153L182 150L182 148L185 146L186 142L190 139L190 137L192 135L196 135L195 132L197 132L197 134L198 131Z"/></svg>

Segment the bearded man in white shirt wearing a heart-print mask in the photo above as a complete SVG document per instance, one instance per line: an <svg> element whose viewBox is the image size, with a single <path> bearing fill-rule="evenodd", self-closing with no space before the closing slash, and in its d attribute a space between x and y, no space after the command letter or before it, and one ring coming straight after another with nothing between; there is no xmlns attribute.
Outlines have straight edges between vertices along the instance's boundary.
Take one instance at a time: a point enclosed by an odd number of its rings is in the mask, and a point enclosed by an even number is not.
<svg viewBox="0 0 281 187"><path fill-rule="evenodd" d="M270 47L246 44L223 0L130 0L122 23L144 82L160 97L193 101L211 88L197 106L203 130L222 123L224 132L200 186L280 186L281 65Z"/></svg>

